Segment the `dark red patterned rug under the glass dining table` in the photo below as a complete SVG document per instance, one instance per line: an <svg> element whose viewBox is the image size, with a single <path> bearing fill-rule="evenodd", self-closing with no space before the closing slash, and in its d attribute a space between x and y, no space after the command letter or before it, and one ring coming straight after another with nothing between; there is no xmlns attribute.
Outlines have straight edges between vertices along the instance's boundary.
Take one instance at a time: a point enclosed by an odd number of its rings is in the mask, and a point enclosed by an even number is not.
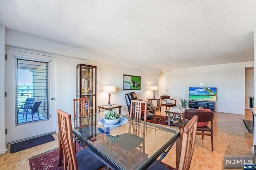
<svg viewBox="0 0 256 170"><path fill-rule="evenodd" d="M81 147L78 147L78 150L82 150ZM40 154L39 156L36 156L34 158L29 159L29 166L30 170L63 170L64 165L62 160L62 166L58 166L59 162L59 149L51 150L47 153ZM162 163L164 166L169 168L170 170L176 170L175 168L172 168L171 166ZM104 168L103 170L111 170L109 167Z"/></svg>

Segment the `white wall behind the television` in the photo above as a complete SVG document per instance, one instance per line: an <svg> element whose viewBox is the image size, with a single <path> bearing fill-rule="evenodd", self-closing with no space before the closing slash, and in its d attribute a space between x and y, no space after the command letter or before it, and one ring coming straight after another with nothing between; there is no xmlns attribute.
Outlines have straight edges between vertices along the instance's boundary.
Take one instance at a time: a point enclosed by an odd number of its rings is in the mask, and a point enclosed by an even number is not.
<svg viewBox="0 0 256 170"><path fill-rule="evenodd" d="M245 62L173 69L171 74L172 98L178 104L179 98L188 99L189 87L216 87L215 111L244 114Z"/></svg>

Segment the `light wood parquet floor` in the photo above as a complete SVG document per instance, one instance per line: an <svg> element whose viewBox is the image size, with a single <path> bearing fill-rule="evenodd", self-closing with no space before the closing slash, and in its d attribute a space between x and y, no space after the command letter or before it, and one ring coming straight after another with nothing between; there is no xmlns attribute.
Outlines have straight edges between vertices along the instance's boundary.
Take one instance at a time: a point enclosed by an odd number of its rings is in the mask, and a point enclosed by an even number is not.
<svg viewBox="0 0 256 170"><path fill-rule="evenodd" d="M202 140L202 136L197 135L190 170L222 170L224 155L252 154L253 134L246 132L242 121L252 120L252 112L246 109L245 113L236 115L215 112L214 151L211 150L209 136ZM163 110L156 114L166 115ZM0 170L29 170L28 158L58 147L58 134L52 135L56 140L13 154L10 153L10 145L7 146L8 152L0 155ZM176 167L175 145L162 162Z"/></svg>

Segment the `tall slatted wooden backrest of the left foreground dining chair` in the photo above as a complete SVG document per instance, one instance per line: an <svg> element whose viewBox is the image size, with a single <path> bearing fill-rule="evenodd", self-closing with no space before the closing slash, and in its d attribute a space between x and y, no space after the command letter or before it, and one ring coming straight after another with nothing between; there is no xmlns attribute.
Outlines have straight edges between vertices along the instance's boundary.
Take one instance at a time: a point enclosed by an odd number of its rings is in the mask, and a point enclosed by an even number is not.
<svg viewBox="0 0 256 170"><path fill-rule="evenodd" d="M71 115L60 109L57 109L57 115L59 137L64 153L64 163L68 162L70 170L78 170L76 152L73 145Z"/></svg>

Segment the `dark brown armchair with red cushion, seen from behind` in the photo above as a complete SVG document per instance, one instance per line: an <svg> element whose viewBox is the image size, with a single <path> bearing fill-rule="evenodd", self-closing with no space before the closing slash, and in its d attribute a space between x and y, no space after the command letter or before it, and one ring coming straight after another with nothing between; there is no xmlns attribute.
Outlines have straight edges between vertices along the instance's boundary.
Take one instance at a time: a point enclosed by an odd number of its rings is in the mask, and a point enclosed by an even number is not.
<svg viewBox="0 0 256 170"><path fill-rule="evenodd" d="M205 109L186 109L184 113L180 113L181 121L180 128L183 128L184 125L188 123L192 117L196 115L198 116L197 123L197 135L202 135L202 139L204 139L204 135L211 136L212 143L212 151L213 151L213 119L214 119L214 111L207 111ZM211 123L211 126L208 126L208 122ZM206 133L204 133L206 132Z"/></svg>

